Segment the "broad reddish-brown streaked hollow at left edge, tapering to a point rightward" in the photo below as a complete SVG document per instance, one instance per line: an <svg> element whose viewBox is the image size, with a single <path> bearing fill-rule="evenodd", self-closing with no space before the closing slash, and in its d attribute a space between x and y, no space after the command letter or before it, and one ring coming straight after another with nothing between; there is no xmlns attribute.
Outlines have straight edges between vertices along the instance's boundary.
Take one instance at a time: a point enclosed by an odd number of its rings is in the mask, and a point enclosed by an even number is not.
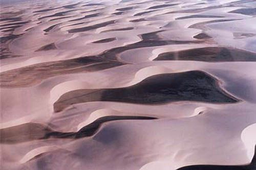
<svg viewBox="0 0 256 170"><path fill-rule="evenodd" d="M1 87L24 87L37 84L50 77L74 74L82 71L96 71L123 65L116 60L102 56L88 56L76 59L54 61L26 66L0 73Z"/></svg>

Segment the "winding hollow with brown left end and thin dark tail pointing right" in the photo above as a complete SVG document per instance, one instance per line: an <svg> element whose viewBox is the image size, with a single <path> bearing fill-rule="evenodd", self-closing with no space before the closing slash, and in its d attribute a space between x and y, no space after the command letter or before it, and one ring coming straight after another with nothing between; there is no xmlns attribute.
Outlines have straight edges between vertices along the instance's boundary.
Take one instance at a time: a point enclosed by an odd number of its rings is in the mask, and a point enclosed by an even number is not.
<svg viewBox="0 0 256 170"><path fill-rule="evenodd" d="M19 143L31 140L48 139L48 138L82 138L94 135L100 126L106 122L114 120L151 120L155 117L146 116L104 116L96 119L93 123L84 126L78 132L58 132L52 130L46 125L27 123L15 127L0 129L1 143Z"/></svg>

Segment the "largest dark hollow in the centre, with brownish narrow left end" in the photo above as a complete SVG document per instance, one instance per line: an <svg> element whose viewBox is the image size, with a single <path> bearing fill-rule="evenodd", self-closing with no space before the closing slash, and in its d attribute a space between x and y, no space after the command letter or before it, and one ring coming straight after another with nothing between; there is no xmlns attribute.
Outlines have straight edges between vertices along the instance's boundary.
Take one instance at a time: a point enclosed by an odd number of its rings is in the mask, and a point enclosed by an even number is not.
<svg viewBox="0 0 256 170"><path fill-rule="evenodd" d="M187 71L151 76L130 87L70 91L54 103L54 111L93 101L164 104L175 101L235 103L239 100L224 92L215 78L205 72Z"/></svg>

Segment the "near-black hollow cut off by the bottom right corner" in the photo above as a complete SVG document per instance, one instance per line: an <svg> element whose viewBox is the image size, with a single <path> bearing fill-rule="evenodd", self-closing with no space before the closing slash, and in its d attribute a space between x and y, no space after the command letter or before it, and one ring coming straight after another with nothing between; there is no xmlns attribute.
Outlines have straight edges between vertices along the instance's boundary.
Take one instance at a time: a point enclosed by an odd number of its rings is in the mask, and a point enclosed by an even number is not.
<svg viewBox="0 0 256 170"><path fill-rule="evenodd" d="M178 168L177 170L255 170L256 169L256 145L254 156L248 165L192 165Z"/></svg>

